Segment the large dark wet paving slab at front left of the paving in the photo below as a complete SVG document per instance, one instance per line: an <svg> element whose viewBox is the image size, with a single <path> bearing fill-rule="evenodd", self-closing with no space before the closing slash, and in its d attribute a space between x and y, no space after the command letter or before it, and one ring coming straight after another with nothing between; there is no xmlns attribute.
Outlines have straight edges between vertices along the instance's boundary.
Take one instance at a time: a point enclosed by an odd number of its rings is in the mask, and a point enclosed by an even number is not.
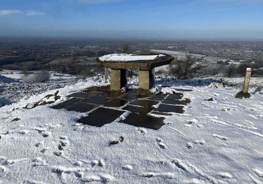
<svg viewBox="0 0 263 184"><path fill-rule="evenodd" d="M83 117L77 122L83 123L84 125L102 127L103 125L116 120L124 112L125 111L118 111L114 109L100 107L89 113L89 116Z"/></svg>

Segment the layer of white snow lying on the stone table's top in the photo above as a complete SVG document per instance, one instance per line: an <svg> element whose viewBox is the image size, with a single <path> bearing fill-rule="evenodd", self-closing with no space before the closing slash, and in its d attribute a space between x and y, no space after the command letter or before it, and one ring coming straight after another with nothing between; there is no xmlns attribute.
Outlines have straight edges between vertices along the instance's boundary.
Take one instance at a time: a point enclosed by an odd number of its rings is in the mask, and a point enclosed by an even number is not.
<svg viewBox="0 0 263 184"><path fill-rule="evenodd" d="M156 57L165 56L164 54L152 56L134 56L135 54L108 54L99 58L100 61L138 61L138 60L153 60Z"/></svg>

